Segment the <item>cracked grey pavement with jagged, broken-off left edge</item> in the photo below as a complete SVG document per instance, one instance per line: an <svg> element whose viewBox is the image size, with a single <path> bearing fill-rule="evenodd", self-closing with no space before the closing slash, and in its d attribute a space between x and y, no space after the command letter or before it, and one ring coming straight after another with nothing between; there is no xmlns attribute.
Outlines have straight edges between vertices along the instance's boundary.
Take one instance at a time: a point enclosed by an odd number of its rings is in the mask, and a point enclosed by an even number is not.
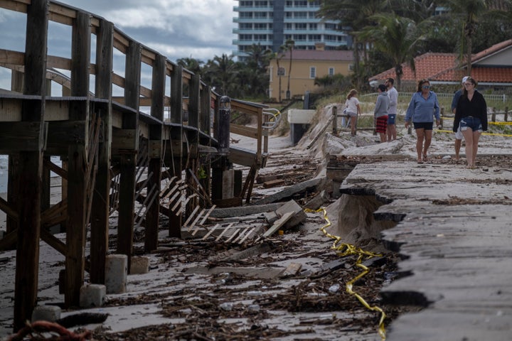
<svg viewBox="0 0 512 341"><path fill-rule="evenodd" d="M398 223L383 238L408 276L383 288L385 301L425 307L389 325L387 340L512 340L510 169L360 164L341 187L375 195L375 219Z"/></svg>

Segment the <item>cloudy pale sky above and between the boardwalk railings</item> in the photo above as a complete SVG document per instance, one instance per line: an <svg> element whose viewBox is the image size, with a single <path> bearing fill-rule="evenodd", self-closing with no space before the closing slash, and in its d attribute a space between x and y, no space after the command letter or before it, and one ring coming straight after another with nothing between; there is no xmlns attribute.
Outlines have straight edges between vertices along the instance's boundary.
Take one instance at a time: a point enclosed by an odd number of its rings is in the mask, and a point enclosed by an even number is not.
<svg viewBox="0 0 512 341"><path fill-rule="evenodd" d="M128 36L166 55L169 60L196 58L206 62L231 55L234 0L63 0L64 4L102 16ZM25 21L20 13L0 11L0 42L23 50ZM18 26L19 28L16 28ZM50 26L49 31L55 30ZM48 53L58 53L58 38L48 40ZM55 53L52 53L55 52Z"/></svg>

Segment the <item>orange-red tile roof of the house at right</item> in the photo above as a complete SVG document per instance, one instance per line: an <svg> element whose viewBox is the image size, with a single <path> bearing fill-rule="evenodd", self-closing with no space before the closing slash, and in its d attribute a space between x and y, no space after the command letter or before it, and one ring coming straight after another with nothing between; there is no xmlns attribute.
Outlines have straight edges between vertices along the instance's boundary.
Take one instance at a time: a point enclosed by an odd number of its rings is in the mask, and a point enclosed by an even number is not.
<svg viewBox="0 0 512 341"><path fill-rule="evenodd" d="M491 55L512 48L512 39L506 40L476 53L471 58L471 76L478 82L512 83L512 64L508 67L479 67L474 63L484 60ZM425 53L415 58L416 72L407 64L402 64L402 82L417 82L423 78L437 82L460 82L466 75L466 70L459 66L457 55L453 53ZM396 77L395 68L391 68L369 80L385 80Z"/></svg>

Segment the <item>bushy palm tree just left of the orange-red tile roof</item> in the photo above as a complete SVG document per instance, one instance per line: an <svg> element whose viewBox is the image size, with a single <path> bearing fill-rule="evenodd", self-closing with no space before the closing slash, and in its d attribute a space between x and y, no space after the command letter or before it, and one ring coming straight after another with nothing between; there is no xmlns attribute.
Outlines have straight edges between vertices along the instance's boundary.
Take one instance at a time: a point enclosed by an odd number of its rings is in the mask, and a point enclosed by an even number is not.
<svg viewBox="0 0 512 341"><path fill-rule="evenodd" d="M400 90L403 75L402 64L409 63L414 68L415 46L423 39L418 34L417 25L412 19L395 14L383 13L371 17L377 26L368 26L356 35L373 43L376 50L387 55L395 67L397 88Z"/></svg>

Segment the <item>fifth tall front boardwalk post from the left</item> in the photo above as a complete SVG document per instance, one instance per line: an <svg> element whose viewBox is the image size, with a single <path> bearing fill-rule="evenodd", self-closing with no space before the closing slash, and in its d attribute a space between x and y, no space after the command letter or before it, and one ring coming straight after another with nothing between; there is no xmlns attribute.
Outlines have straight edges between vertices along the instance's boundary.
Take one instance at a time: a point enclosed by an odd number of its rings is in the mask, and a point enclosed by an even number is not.
<svg viewBox="0 0 512 341"><path fill-rule="evenodd" d="M166 84L166 58L156 55L151 77L151 116L164 121L164 96ZM162 149L162 125L149 126L149 167L147 182L147 195L153 198L148 200L146 207L146 234L144 250L152 251L158 247L158 230L160 225L160 190L161 190L161 149Z"/></svg>

